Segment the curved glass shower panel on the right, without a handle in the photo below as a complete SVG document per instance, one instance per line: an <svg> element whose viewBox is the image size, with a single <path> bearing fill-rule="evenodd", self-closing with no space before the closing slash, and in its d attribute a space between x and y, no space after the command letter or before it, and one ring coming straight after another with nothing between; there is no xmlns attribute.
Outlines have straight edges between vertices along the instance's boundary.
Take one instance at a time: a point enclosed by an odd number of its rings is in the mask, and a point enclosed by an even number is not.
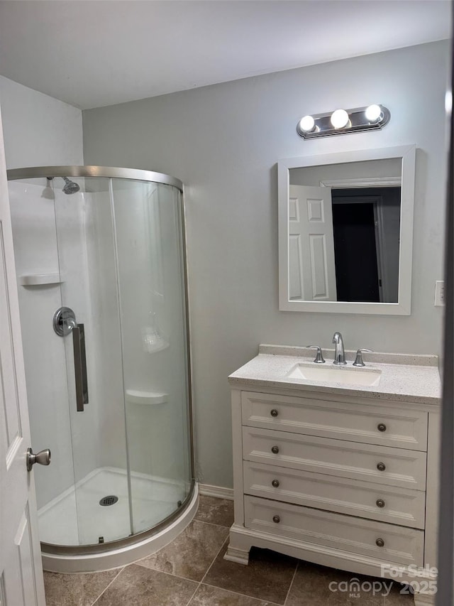
<svg viewBox="0 0 454 606"><path fill-rule="evenodd" d="M112 180L134 533L189 494L189 377L182 200L162 183Z"/></svg>

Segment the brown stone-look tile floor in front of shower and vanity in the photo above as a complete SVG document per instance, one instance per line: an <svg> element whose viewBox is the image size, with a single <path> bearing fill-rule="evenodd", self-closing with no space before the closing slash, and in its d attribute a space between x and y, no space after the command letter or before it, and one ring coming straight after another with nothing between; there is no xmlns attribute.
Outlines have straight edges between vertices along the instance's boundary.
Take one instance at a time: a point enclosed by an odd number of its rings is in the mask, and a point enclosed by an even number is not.
<svg viewBox="0 0 454 606"><path fill-rule="evenodd" d="M333 592L359 575L253 548L249 566L223 560L233 502L200 497L195 519L175 541L129 566L101 573L45 573L47 606L410 606L389 595ZM360 583L374 579L360 577ZM342 585L340 585L342 587Z"/></svg>

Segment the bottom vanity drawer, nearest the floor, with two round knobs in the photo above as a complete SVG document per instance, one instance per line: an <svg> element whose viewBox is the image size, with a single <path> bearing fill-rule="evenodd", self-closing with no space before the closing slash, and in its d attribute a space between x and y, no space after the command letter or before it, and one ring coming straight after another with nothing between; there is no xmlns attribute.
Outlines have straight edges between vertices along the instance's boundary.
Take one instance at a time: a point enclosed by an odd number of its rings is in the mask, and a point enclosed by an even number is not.
<svg viewBox="0 0 454 606"><path fill-rule="evenodd" d="M400 565L423 566L424 533L353 516L245 496L245 527Z"/></svg>

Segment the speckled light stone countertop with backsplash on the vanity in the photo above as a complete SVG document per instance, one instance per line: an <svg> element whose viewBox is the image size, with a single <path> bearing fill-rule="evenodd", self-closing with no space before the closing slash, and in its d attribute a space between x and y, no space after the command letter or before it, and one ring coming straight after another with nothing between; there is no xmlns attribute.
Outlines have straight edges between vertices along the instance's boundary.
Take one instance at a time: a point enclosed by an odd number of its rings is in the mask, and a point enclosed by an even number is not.
<svg viewBox="0 0 454 606"><path fill-rule="evenodd" d="M333 367L334 350L322 351L326 364L314 364L316 350L310 350L307 347L260 345L258 356L233 372L228 377L228 382L231 386L246 388L280 387L345 396L440 404L441 379L438 372L438 357L434 355L364 353L365 370L381 372L380 382L372 386L287 377L287 373L294 368L295 364L331 367L338 372L342 372L343 369L362 371L362 369L352 366L355 352L345 350L348 365Z"/></svg>

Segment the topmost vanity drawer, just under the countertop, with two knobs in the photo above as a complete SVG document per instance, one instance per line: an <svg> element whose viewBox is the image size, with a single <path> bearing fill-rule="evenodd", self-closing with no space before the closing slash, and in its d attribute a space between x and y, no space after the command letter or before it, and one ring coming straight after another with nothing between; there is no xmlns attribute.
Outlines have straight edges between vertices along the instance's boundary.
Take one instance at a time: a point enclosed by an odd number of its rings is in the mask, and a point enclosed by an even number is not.
<svg viewBox="0 0 454 606"><path fill-rule="evenodd" d="M427 449L428 413L292 396L241 392L243 425L367 444Z"/></svg>

